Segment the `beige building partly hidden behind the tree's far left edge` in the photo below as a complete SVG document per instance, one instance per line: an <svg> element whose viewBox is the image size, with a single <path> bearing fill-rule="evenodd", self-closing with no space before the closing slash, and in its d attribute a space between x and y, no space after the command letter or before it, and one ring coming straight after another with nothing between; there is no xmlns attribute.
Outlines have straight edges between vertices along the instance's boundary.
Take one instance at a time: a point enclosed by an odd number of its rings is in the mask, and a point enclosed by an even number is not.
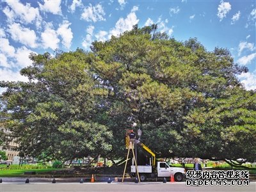
<svg viewBox="0 0 256 192"><path fill-rule="evenodd" d="M4 134L10 133L10 130L8 129L5 129L5 128L0 128L0 129L1 131L4 132ZM6 156L8 157L8 161L12 162L15 156L19 156L19 152L15 150L17 147L19 147L19 145L15 143L15 140L13 140L4 147L0 146L0 150L4 151L6 153Z"/></svg>

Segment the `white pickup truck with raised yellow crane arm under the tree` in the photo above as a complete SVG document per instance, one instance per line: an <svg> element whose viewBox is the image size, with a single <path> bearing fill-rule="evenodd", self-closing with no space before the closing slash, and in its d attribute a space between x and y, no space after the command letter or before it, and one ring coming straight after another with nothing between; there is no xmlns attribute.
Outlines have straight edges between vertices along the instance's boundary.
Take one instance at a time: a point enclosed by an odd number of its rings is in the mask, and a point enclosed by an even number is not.
<svg viewBox="0 0 256 192"><path fill-rule="evenodd" d="M148 153L152 155L152 163L150 158L150 163L148 165L138 165L138 173L140 175L141 181L145 181L150 177L170 178L171 175L173 175L175 181L182 181L186 174L186 170L184 168L169 166L166 162L157 162L156 166L156 154L154 154L140 141L136 140L136 143L141 145L141 147L143 147ZM131 165L131 176L136 177L136 166L134 165L134 161L132 161Z"/></svg>

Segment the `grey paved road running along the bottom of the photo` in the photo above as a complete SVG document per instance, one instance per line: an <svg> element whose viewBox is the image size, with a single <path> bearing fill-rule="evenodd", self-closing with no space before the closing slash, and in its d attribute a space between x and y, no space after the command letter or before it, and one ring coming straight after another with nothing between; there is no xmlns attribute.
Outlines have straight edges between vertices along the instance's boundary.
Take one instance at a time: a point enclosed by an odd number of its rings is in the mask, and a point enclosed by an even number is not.
<svg viewBox="0 0 256 192"><path fill-rule="evenodd" d="M3 183L0 184L1 192L65 192L65 191L111 191L111 192L122 192L122 191L256 191L256 182L250 182L249 186L186 186L185 182L142 182L136 184L134 182L116 182L108 184L104 183L29 183L29 184L13 184Z"/></svg>

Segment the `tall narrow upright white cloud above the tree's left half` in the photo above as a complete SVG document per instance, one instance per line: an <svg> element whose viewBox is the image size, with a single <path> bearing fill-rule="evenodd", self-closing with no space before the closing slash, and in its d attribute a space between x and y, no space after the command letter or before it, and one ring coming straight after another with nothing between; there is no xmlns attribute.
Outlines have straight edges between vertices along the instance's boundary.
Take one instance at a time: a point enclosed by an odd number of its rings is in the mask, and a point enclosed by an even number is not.
<svg viewBox="0 0 256 192"><path fill-rule="evenodd" d="M60 24L60 27L57 30L57 34L61 36L62 38L62 44L69 49L71 46L73 33L71 31L71 28L68 28L70 26L70 22L68 20L63 20L63 23Z"/></svg>

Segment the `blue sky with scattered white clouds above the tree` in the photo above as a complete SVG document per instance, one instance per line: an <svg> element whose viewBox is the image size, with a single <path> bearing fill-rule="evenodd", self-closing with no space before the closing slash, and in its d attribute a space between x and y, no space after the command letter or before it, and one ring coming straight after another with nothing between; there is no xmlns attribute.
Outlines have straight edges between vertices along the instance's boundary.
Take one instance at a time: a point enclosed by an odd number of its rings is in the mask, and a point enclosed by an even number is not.
<svg viewBox="0 0 256 192"><path fill-rule="evenodd" d="M207 49L230 50L249 68L239 77L256 89L255 1L1 1L1 80L28 81L19 74L31 65L30 52L90 50L94 40L118 36L134 24L156 23L179 41L198 38Z"/></svg>

